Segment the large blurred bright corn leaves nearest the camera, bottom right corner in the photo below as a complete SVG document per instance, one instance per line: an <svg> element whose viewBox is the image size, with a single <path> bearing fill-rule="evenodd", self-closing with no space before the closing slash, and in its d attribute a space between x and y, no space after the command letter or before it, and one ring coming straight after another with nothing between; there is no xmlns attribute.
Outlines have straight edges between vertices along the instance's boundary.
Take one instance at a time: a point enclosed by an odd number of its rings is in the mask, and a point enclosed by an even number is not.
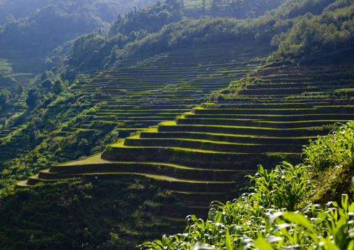
<svg viewBox="0 0 354 250"><path fill-rule="evenodd" d="M261 237L249 237L238 249L354 249L354 203L308 205L298 212L268 214ZM238 236L236 236L238 237Z"/></svg>

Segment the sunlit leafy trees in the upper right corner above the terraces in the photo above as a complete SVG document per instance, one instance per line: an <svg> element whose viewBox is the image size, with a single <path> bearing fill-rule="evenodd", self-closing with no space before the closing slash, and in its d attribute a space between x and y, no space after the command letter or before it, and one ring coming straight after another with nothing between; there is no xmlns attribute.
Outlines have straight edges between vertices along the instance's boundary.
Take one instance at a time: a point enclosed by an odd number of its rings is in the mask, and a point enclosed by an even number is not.
<svg viewBox="0 0 354 250"><path fill-rule="evenodd" d="M304 59L323 56L352 47L354 42L354 6L325 11L322 15L306 15L286 33L275 36L277 55Z"/></svg>

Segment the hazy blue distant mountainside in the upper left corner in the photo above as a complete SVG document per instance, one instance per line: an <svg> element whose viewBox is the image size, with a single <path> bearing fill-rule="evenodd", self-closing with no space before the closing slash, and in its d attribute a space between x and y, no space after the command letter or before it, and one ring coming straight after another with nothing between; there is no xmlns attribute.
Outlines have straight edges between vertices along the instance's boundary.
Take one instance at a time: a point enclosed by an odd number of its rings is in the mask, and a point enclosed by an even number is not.
<svg viewBox="0 0 354 250"><path fill-rule="evenodd" d="M94 31L107 33L111 22L119 14L123 15L134 7L144 8L151 3L101 0L0 1L1 91L14 94L17 84L29 86L29 81L36 75L61 63L62 58L59 57L70 52L77 36ZM51 54L60 56L54 59Z"/></svg>

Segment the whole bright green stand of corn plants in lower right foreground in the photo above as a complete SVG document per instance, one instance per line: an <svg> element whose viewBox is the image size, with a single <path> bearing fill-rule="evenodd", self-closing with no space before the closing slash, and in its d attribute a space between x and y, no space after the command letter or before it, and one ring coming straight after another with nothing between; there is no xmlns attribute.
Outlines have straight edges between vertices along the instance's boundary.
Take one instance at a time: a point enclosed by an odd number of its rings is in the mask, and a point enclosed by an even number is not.
<svg viewBox="0 0 354 250"><path fill-rule="evenodd" d="M191 249L198 242L193 249L353 249L354 203L349 196L354 194L354 178L348 186L354 171L352 130L350 122L306 148L305 162L316 161L316 168L284 162L268 172L259 166L256 175L249 175L254 183L250 193L233 202L212 203L208 220L192 215L184 233L144 242L141 249ZM331 151L323 145L331 145ZM325 174L323 169L334 171L337 162L332 159L341 152L341 167L350 170L342 183L349 195L341 196L340 205L312 204L318 193L314 176Z"/></svg>

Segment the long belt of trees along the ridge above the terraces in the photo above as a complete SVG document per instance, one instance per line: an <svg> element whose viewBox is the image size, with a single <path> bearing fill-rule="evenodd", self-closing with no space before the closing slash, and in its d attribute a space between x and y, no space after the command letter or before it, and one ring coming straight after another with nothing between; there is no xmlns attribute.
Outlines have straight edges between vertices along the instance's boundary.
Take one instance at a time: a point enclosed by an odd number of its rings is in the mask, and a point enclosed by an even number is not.
<svg viewBox="0 0 354 250"><path fill-rule="evenodd" d="M300 60L353 42L353 3L348 0L290 0L256 19L180 16L183 2L168 0L120 17L109 36L91 33L75 41L70 74L118 66L144 52L157 54L190 45L256 40L275 46L275 56ZM178 22L176 22L178 21ZM162 27L157 31L159 27Z"/></svg>

